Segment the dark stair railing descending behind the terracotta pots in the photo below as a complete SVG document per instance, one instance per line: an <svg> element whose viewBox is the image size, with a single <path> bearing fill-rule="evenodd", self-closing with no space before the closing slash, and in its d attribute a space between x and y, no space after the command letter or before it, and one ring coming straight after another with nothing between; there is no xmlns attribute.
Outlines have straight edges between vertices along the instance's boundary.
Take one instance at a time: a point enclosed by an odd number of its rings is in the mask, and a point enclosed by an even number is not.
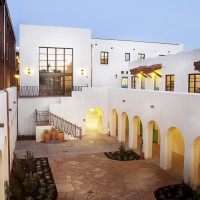
<svg viewBox="0 0 200 200"><path fill-rule="evenodd" d="M49 112L36 110L36 125L37 126L55 126L56 129L62 129L66 134L73 137L82 137L82 128L76 124L72 124L67 120Z"/></svg>

